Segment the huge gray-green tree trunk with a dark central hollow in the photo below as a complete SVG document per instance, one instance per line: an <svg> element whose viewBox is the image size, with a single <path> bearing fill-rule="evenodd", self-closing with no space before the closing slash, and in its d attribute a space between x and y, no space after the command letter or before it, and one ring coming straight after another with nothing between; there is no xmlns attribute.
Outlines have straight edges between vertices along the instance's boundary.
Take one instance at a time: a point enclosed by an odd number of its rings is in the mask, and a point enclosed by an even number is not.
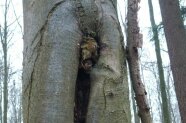
<svg viewBox="0 0 186 123"><path fill-rule="evenodd" d="M98 33L100 45L98 63L89 75L84 74L88 79L90 76L87 82L90 81L91 90L88 115L83 120L130 123L127 73L124 72L126 66L116 8L111 1L81 2L87 13L83 24L90 25L88 29ZM80 77L81 71L78 73L82 32L75 3L72 0L23 1L24 123L73 123L78 120L74 104L78 105L76 100L81 94L75 94L78 92L75 88L79 88L76 81L85 80ZM93 18L99 21L96 30Z"/></svg>

